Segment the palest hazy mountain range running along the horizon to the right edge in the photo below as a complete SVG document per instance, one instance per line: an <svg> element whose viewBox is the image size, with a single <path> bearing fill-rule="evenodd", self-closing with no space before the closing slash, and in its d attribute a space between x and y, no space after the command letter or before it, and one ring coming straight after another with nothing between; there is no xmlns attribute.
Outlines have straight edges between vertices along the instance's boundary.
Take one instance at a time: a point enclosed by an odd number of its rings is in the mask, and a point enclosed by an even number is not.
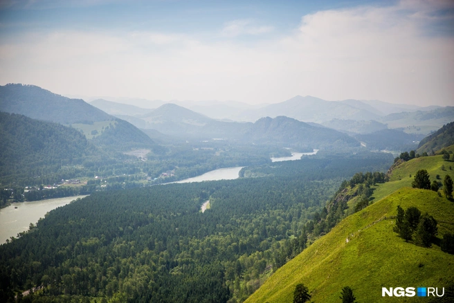
<svg viewBox="0 0 454 303"><path fill-rule="evenodd" d="M154 116L157 113L153 114L152 109L105 100L94 100L92 104L133 123L136 127L155 129L156 125L148 125L149 122L155 124ZM454 110L451 107L417 107L379 100L327 101L300 95L284 102L255 106L241 102L175 101L175 103L165 103L161 107L167 104L185 107L214 120L255 122L264 117L287 116L302 122L316 122L338 131L345 131L347 134L368 134L386 128L401 128L406 133L427 135L454 120ZM176 110L175 107L174 109Z"/></svg>

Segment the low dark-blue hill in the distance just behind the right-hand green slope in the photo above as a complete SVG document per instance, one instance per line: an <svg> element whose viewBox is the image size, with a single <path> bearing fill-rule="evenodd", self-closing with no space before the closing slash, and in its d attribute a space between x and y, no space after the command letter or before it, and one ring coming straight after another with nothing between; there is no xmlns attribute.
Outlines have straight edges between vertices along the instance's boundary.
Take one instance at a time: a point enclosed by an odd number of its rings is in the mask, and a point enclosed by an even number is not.
<svg viewBox="0 0 454 303"><path fill-rule="evenodd" d="M354 138L365 143L369 149L405 152L416 149L424 135L406 134L400 129L381 129L370 134L358 134Z"/></svg>

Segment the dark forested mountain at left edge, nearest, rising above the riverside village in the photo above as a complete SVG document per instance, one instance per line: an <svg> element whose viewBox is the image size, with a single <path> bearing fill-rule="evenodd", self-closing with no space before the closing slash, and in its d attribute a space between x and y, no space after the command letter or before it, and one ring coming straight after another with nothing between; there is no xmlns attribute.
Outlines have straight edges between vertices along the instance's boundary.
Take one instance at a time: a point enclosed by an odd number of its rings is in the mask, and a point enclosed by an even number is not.
<svg viewBox="0 0 454 303"><path fill-rule="evenodd" d="M79 131L52 122L0 112L0 181L23 183L65 165L107 158ZM68 178L62 175L61 178ZM22 181L22 182L21 182Z"/></svg>

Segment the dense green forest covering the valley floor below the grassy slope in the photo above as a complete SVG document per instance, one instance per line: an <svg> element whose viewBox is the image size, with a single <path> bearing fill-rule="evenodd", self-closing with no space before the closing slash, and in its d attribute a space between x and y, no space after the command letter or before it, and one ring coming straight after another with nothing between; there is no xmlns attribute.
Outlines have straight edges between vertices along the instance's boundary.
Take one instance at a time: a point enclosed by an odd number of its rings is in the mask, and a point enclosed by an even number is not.
<svg viewBox="0 0 454 303"><path fill-rule="evenodd" d="M0 246L1 300L35 287L24 302L242 302L305 248L305 224L365 168L325 161L325 171L96 192L58 208Z"/></svg>

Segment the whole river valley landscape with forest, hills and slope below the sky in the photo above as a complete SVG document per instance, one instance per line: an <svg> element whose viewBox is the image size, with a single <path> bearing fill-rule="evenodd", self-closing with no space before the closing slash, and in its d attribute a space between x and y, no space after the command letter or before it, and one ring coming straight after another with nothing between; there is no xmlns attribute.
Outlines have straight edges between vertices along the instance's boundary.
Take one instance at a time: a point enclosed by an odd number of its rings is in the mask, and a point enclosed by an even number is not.
<svg viewBox="0 0 454 303"><path fill-rule="evenodd" d="M292 113L323 106L293 115L307 121L276 116L277 104L272 117L235 122L98 100L117 116L84 105L87 120L75 120L83 100L11 85L0 98L12 111L0 113L5 302L22 293L28 302L289 302L299 283L316 301L336 302L345 284L374 301L389 281L454 281L442 244L454 231L443 183L453 124L421 134L454 120L450 107L385 115L376 102L298 97L284 102ZM48 99L60 118L26 110ZM348 119L321 121L329 106ZM359 120L365 111L377 120ZM438 193L410 187L419 169ZM395 235L397 205L437 220L431 248Z"/></svg>

